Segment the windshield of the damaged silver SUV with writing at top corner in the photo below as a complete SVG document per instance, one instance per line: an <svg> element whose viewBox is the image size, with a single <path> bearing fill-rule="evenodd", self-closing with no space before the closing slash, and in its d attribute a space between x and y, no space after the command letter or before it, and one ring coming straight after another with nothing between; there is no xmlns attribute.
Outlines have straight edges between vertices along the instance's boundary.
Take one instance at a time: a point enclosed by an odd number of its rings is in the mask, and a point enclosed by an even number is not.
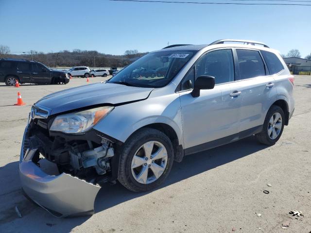
<svg viewBox="0 0 311 233"><path fill-rule="evenodd" d="M193 56L193 51L151 52L119 71L108 83L139 87L163 87Z"/></svg>

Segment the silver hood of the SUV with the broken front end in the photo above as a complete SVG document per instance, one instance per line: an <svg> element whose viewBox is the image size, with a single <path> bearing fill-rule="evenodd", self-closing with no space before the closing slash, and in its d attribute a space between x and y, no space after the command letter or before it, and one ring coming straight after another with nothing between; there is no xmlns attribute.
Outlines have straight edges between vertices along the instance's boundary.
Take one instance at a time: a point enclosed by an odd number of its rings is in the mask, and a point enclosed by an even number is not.
<svg viewBox="0 0 311 233"><path fill-rule="evenodd" d="M50 115L95 104L118 104L148 98L153 88L116 83L94 83L69 88L43 97L35 104L51 109Z"/></svg>

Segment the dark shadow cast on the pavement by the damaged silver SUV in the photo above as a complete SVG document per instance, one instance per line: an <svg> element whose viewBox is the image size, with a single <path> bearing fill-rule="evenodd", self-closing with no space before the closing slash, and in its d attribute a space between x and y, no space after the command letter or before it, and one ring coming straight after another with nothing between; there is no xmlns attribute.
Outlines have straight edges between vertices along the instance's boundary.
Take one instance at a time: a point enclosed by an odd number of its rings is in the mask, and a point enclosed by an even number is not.
<svg viewBox="0 0 311 233"><path fill-rule="evenodd" d="M252 136L225 146L186 156L181 163L174 162L168 179L158 189L202 172L207 172L217 166L222 166L265 148L267 146L259 144ZM0 167L0 232L2 227L6 229L8 225L17 232L24 232L25 229L34 233L70 232L91 217L55 218L27 200L21 192L18 165L17 161ZM115 185L105 183L96 197L95 213L105 211L122 202L136 199L153 191L134 193L127 190L120 183ZM17 216L16 206L22 218ZM20 226L20 228L17 226Z"/></svg>

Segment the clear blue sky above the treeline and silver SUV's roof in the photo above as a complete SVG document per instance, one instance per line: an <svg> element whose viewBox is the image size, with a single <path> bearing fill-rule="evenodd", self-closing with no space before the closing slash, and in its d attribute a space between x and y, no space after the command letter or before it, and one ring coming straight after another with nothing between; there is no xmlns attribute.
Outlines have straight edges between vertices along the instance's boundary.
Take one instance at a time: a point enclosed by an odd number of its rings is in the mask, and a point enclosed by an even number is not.
<svg viewBox="0 0 311 233"><path fill-rule="evenodd" d="M237 38L262 41L285 54L298 49L305 57L311 53L310 12L311 6L0 0L0 44L11 51L123 54L161 49L168 42Z"/></svg>

